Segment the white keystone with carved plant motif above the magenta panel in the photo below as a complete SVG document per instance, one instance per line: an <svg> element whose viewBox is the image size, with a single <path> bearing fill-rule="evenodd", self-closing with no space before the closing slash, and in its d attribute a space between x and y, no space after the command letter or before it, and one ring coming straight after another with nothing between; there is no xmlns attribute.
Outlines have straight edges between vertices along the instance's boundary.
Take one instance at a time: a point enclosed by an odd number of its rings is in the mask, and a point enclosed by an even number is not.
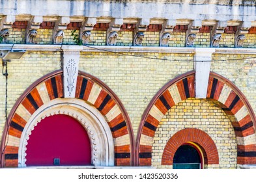
<svg viewBox="0 0 256 182"><path fill-rule="evenodd" d="M63 45L63 90L64 98L75 98L78 79L79 57L82 46Z"/></svg>

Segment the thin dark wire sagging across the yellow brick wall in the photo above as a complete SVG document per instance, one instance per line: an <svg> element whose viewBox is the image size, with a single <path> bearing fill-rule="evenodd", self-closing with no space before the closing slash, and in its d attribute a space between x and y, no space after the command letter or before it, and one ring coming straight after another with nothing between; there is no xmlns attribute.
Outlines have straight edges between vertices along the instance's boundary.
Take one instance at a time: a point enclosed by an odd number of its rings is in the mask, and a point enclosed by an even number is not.
<svg viewBox="0 0 256 182"><path fill-rule="evenodd" d="M110 51L107 49L100 49L98 47L92 47L90 45L84 45L85 47L89 47L91 49L96 49L98 51L105 51L107 53L115 53L117 55L124 55L124 56L130 56L130 57L139 57L144 59L153 59L153 60L168 60L173 62L224 62L224 61L233 61L233 60L245 60L245 59L256 59L256 57L247 57L247 58L240 58L240 59L223 59L223 60L180 60L180 59L162 59L158 57L145 57L140 55L132 55L132 54L126 54L126 53L119 53L116 51Z"/></svg>

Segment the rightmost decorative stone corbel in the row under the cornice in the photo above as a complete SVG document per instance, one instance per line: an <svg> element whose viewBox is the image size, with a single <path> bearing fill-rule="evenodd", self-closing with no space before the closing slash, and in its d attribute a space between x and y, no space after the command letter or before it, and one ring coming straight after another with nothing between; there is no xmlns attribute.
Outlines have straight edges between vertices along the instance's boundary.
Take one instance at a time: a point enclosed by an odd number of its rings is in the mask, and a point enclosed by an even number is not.
<svg viewBox="0 0 256 182"><path fill-rule="evenodd" d="M249 28L251 27L251 21L241 22L237 27L237 31L235 33L235 47L243 47L244 40L246 39L245 34L248 34Z"/></svg>

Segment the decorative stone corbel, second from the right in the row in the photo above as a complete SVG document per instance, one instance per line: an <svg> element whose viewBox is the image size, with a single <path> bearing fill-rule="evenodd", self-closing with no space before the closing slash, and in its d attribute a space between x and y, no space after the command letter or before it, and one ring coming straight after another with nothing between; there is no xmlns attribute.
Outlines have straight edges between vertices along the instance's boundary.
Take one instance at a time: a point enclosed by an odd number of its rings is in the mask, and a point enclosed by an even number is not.
<svg viewBox="0 0 256 182"><path fill-rule="evenodd" d="M227 21L218 21L212 27L210 31L210 47L219 47L221 34L224 32L225 27L227 27Z"/></svg>

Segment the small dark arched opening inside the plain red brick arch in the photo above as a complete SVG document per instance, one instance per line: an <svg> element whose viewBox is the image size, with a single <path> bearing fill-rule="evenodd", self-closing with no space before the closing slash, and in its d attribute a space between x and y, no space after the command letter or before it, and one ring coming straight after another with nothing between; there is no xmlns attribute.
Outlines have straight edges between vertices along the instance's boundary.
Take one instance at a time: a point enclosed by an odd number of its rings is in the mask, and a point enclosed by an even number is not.
<svg viewBox="0 0 256 182"><path fill-rule="evenodd" d="M201 169L203 157L197 146L185 143L180 146L173 157L173 169Z"/></svg>

